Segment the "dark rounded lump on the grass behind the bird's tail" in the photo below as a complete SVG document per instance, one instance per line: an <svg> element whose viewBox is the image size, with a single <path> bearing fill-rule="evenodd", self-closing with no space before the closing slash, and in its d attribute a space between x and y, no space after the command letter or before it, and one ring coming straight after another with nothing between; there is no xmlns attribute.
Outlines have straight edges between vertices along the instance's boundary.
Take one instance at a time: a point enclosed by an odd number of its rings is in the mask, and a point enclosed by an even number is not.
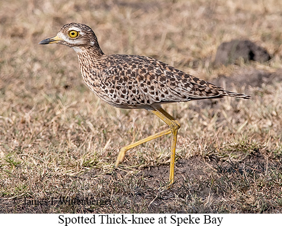
<svg viewBox="0 0 282 226"><path fill-rule="evenodd" d="M252 43L249 40L232 40L222 43L216 52L215 65L235 63L239 57L245 62L255 60L260 63L271 59L269 53L263 47Z"/></svg>

